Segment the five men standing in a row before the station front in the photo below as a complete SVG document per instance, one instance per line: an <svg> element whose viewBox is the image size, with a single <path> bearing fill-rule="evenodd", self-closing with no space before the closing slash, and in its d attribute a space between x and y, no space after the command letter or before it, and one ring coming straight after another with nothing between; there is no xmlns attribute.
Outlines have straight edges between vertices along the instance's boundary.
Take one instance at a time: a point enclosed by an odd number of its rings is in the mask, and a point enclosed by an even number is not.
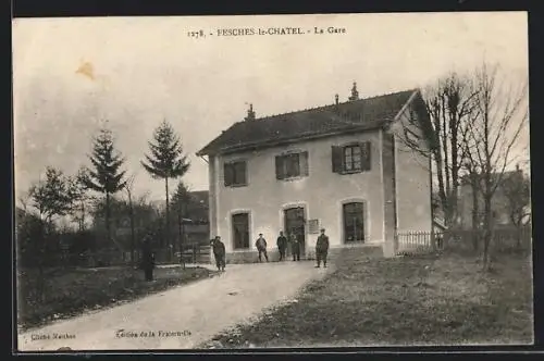
<svg viewBox="0 0 544 361"><path fill-rule="evenodd" d="M213 256L215 258L215 265L219 271L225 271L225 245L221 241L220 236L215 236L211 240L211 247L213 250ZM269 256L267 252L267 240L259 234L259 238L255 241L255 247L257 248L257 252L259 254L259 262L262 262L262 257L267 262L269 262ZM287 237L283 234L283 231L280 232L280 235L276 240L277 251L280 253L280 261L284 261L286 257L286 251L288 246L290 246L290 253L293 256L293 261L300 261L300 242L297 239L295 233L292 233L287 239ZM325 235L325 229L321 229L321 234L318 237L316 242L316 259L318 264L316 267L321 266L321 262L323 262L323 266L326 267L326 257L329 253L329 236Z"/></svg>

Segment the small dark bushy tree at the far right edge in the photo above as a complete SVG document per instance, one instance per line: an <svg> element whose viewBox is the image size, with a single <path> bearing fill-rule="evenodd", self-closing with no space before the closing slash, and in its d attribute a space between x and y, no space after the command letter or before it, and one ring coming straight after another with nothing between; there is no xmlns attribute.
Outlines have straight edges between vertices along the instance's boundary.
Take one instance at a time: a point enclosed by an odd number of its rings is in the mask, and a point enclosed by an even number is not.
<svg viewBox="0 0 544 361"><path fill-rule="evenodd" d="M503 180L503 192L507 199L508 215L517 234L518 248L521 242L521 229L528 223L531 215L531 191L529 177L524 176L520 169L505 177Z"/></svg>

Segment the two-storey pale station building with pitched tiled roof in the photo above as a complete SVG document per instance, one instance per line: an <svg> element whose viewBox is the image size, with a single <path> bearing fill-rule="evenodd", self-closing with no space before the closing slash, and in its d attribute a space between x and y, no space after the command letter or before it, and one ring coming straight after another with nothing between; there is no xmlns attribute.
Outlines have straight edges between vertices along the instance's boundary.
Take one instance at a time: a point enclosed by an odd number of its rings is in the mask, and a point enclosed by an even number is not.
<svg viewBox="0 0 544 361"><path fill-rule="evenodd" d="M403 139L429 121L419 90L256 117L252 105L197 155L208 157L211 236L250 260L262 233L295 233L306 253L324 227L331 248L396 252L395 233L432 228L428 155ZM416 122L413 122L416 120ZM416 124L416 125L415 125Z"/></svg>

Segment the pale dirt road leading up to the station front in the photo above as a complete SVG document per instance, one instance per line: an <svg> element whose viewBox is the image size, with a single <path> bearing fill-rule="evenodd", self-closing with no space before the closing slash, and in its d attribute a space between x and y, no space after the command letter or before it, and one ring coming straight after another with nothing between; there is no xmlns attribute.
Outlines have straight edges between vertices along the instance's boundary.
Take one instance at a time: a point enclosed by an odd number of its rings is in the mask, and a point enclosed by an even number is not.
<svg viewBox="0 0 544 361"><path fill-rule="evenodd" d="M220 276L18 335L21 351L190 349L289 300L331 269L312 262L228 265Z"/></svg>

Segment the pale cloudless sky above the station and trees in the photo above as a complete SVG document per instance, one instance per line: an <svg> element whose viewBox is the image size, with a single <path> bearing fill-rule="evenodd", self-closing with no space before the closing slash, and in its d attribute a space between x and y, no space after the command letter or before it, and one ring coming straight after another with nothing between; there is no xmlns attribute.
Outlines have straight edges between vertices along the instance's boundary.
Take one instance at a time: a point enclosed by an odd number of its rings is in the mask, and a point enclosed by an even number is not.
<svg viewBox="0 0 544 361"><path fill-rule="evenodd" d="M270 27L309 34L218 36ZM206 37L188 36L200 29ZM206 190L207 163L195 153L242 121L248 103L257 116L302 110L331 104L335 94L346 101L353 82L371 97L424 87L484 60L527 82L527 33L524 12L17 18L16 197L48 165L66 174L90 165L91 138L104 121L136 195L164 198L164 183L139 163L163 120L191 163L184 182ZM529 142L529 129L522 138Z"/></svg>

